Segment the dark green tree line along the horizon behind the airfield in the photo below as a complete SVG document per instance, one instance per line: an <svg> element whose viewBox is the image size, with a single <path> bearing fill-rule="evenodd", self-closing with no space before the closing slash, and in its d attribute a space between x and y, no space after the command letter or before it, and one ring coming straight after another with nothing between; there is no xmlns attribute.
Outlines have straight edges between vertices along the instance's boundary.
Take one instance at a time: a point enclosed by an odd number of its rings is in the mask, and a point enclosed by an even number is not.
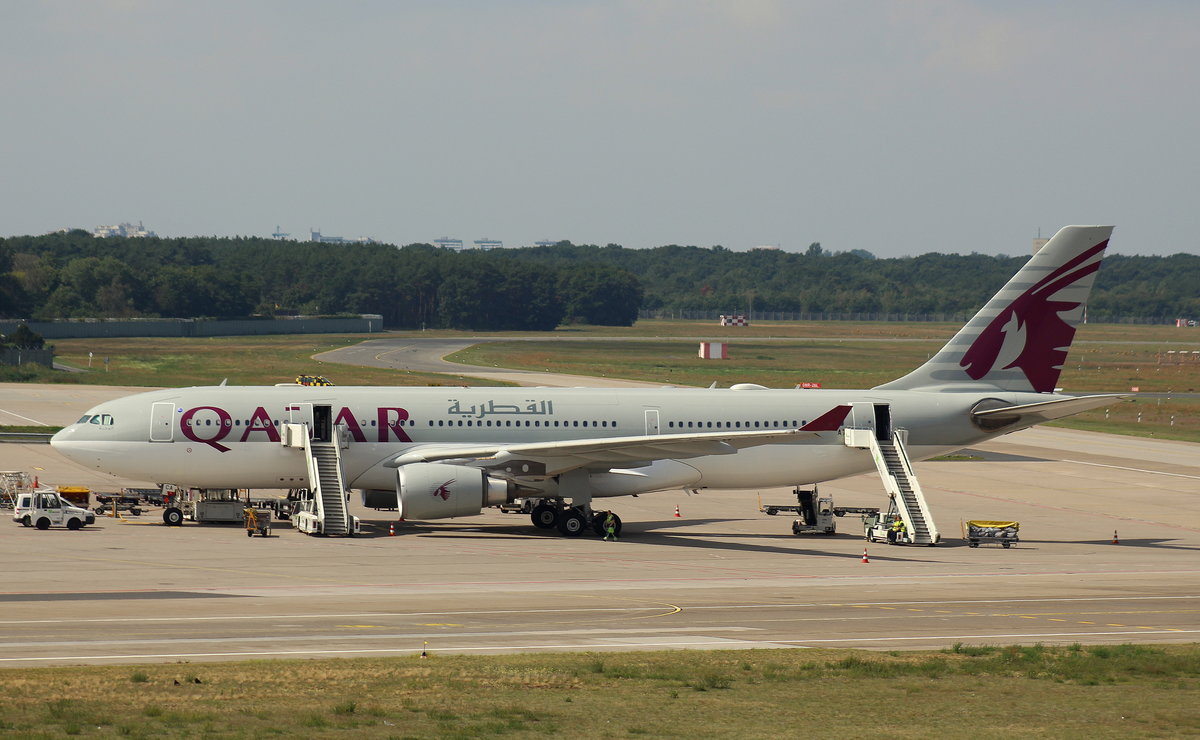
<svg viewBox="0 0 1200 740"><path fill-rule="evenodd" d="M1027 257L733 252L574 245L455 252L258 237L122 239L76 230L0 239L0 317L377 313L389 327L630 325L641 308L743 313L955 313ZM1200 318L1200 257L1110 255L1092 320Z"/></svg>

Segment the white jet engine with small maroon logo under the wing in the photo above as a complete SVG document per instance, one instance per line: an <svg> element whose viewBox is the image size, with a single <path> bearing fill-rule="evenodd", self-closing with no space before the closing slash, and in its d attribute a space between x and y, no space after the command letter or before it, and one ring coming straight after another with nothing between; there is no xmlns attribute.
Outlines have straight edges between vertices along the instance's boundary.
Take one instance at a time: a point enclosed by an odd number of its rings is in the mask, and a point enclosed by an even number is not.
<svg viewBox="0 0 1200 740"><path fill-rule="evenodd" d="M403 519L469 517L510 499L512 483L479 468L413 463L396 471L396 498Z"/></svg>

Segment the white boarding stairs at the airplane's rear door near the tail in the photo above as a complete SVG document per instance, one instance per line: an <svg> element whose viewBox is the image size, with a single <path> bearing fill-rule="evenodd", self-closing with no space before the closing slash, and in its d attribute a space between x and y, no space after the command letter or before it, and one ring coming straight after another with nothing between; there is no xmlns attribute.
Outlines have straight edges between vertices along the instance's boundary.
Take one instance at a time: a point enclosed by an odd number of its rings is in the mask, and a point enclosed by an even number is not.
<svg viewBox="0 0 1200 740"><path fill-rule="evenodd" d="M884 522L896 515L905 523L908 542L912 545L937 545L941 534L929 511L929 503L917 481L912 462L904 445L904 432L878 434L875 429L846 429L845 441L850 447L870 450L875 469L883 481L890 506ZM881 439L882 438L882 439Z"/></svg>

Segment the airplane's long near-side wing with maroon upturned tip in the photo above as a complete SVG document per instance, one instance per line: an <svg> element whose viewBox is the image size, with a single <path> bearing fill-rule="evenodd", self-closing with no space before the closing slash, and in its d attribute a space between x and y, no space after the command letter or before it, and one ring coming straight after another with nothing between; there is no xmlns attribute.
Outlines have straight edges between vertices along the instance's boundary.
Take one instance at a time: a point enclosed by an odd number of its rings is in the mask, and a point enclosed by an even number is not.
<svg viewBox="0 0 1200 740"><path fill-rule="evenodd" d="M656 459L682 459L704 455L733 455L744 447L803 439L834 432L850 414L848 405L835 407L799 429L755 432L706 432L700 434L642 434L600 439L568 439L542 443L494 445L422 445L384 463L398 468L410 463L475 461L499 465L509 461L533 461L545 465L541 475L557 475L583 465L625 465Z"/></svg>

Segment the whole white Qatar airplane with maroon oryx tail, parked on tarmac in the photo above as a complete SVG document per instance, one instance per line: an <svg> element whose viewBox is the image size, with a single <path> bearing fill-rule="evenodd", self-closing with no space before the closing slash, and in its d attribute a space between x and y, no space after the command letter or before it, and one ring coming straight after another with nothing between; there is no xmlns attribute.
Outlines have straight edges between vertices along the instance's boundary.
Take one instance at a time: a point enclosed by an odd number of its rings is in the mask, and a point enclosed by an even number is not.
<svg viewBox="0 0 1200 740"><path fill-rule="evenodd" d="M128 479L292 489L318 477L298 449L332 441L341 488L400 521L520 501L576 536L600 530L598 499L869 473L856 429L925 459L1112 403L1056 390L1111 231L1062 228L928 362L869 390L222 384L102 403L50 444Z"/></svg>

